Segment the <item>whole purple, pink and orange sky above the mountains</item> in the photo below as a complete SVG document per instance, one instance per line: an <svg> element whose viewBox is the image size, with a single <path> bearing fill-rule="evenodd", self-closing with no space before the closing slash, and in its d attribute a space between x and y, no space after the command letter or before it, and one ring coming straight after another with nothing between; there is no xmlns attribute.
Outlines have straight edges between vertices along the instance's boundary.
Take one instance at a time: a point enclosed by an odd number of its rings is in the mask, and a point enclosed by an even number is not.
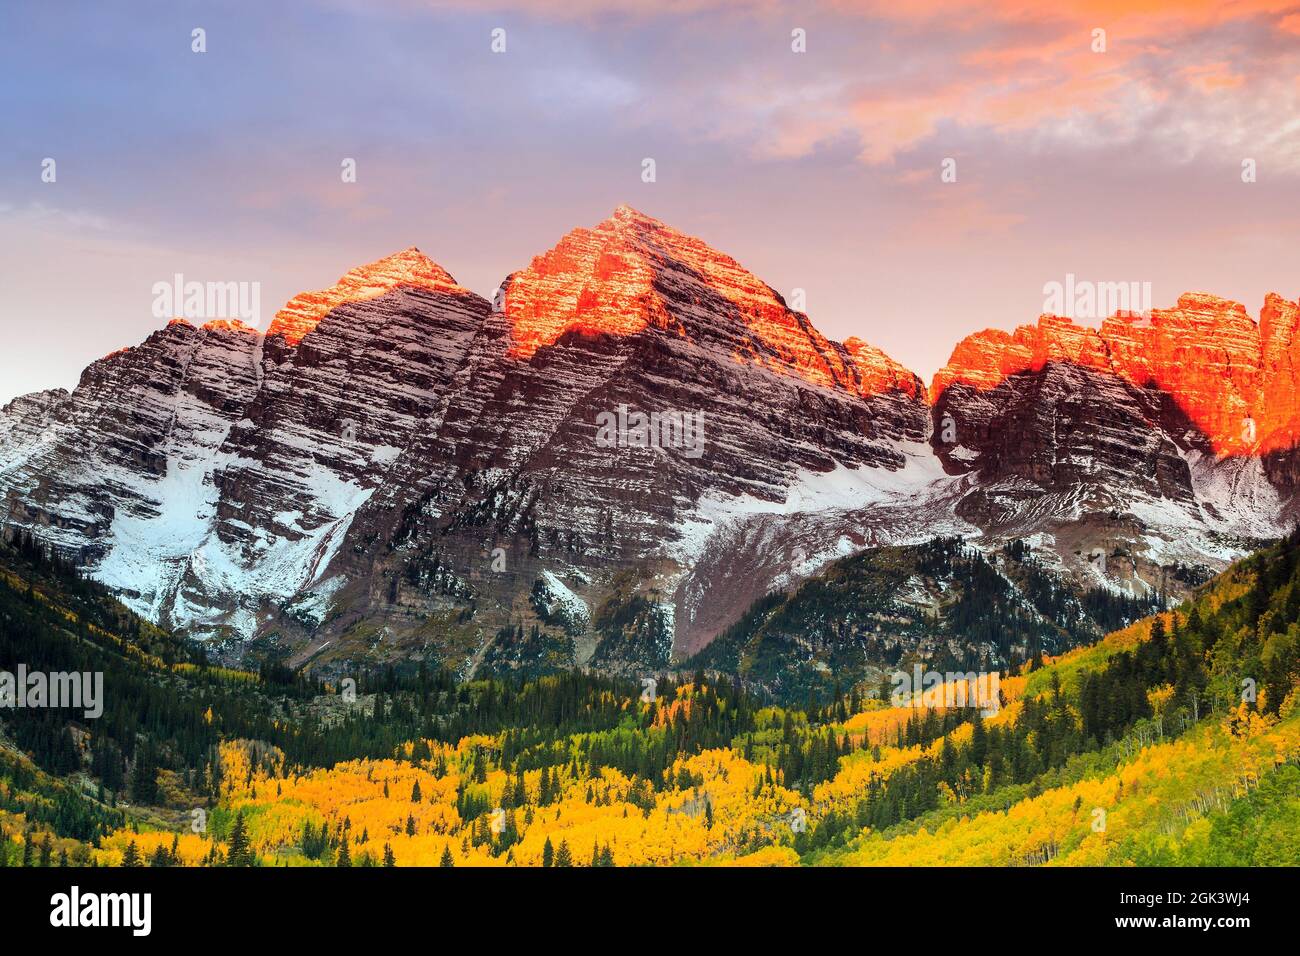
<svg viewBox="0 0 1300 956"><path fill-rule="evenodd" d="M1067 274L1295 299L1297 199L1300 0L6 0L0 402L176 273L261 328L408 246L490 297L621 203L928 381Z"/></svg>

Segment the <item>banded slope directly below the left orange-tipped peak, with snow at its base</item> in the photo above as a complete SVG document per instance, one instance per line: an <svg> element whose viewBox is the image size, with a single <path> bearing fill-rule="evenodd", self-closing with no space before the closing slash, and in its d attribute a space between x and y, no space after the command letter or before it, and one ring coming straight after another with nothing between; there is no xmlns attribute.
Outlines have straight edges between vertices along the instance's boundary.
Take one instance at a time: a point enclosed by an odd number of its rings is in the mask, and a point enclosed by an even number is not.
<svg viewBox="0 0 1300 956"><path fill-rule="evenodd" d="M328 295L335 304L296 346L277 330L278 316L272 324L261 388L220 450L216 522L185 570L182 620L231 593L239 598L228 623L239 635L257 630L268 602L295 596L296 613L317 620L321 592L304 589L329 580L322 574L354 514L443 408L488 303L417 250L374 265L378 278L344 278L365 295ZM368 294L382 286L389 291Z"/></svg>

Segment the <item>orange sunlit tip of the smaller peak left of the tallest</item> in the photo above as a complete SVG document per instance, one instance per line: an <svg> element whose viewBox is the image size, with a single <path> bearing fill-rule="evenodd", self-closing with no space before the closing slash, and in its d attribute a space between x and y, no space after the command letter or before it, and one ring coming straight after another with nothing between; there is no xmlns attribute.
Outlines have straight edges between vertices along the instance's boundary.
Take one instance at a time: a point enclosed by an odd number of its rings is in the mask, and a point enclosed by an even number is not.
<svg viewBox="0 0 1300 956"><path fill-rule="evenodd" d="M408 246L400 252L358 265L329 289L299 293L276 313L266 336L283 336L289 345L298 345L303 336L339 306L376 299L400 287L462 290L451 273L415 246Z"/></svg>

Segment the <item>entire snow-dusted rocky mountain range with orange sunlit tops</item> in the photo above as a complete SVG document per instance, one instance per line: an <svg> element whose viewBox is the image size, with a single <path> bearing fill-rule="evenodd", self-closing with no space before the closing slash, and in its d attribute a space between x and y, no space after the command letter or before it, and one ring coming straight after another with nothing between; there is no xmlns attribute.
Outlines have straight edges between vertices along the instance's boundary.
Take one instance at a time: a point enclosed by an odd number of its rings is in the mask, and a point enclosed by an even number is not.
<svg viewBox="0 0 1300 956"><path fill-rule="evenodd" d="M620 207L491 303L410 248L16 399L0 519L230 656L659 667L874 545L1035 537L1135 593L1222 566L1294 507L1297 321L1044 316L927 392Z"/></svg>

